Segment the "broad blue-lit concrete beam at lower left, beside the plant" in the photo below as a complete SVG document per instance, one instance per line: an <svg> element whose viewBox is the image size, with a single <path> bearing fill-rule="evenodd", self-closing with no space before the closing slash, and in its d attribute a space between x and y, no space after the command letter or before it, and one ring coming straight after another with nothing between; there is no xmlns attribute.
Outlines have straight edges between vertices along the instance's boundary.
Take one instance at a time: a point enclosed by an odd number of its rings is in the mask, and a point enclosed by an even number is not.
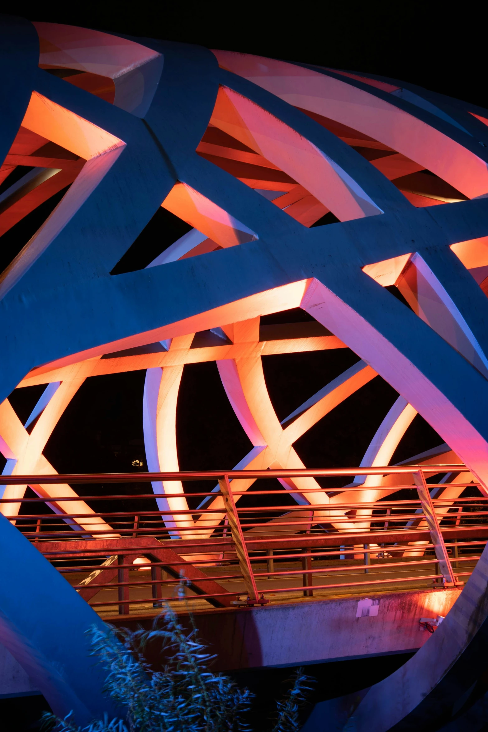
<svg viewBox="0 0 488 732"><path fill-rule="evenodd" d="M1 570L0 642L59 717L72 711L88 725L104 712L123 715L102 693L105 674L89 654L86 631L103 621L4 516L0 526L0 550L10 558Z"/></svg>

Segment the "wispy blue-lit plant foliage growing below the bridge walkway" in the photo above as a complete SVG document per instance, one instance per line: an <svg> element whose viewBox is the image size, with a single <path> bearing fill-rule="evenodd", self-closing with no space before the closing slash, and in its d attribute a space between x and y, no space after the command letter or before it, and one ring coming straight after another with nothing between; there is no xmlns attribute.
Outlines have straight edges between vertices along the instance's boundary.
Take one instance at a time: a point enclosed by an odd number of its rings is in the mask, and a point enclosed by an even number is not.
<svg viewBox="0 0 488 732"><path fill-rule="evenodd" d="M191 616L190 616L191 617ZM91 722L80 728L68 714L64 720L42 715L44 731L56 732L251 732L245 721L253 695L219 673L208 670L214 659L198 639L191 618L190 630L178 621L167 605L154 620L151 630L130 631L107 624L92 627L92 654L107 672L104 691L116 706L127 708L125 720ZM147 651L158 647L162 665L154 670ZM299 730L298 709L309 690L303 669L293 687L277 703L273 732Z"/></svg>

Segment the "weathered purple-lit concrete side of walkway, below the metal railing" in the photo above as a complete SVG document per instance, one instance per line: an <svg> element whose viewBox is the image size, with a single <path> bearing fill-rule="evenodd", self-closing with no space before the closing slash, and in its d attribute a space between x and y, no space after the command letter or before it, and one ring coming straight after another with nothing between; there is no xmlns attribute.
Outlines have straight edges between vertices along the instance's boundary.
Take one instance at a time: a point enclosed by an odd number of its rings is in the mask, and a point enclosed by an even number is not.
<svg viewBox="0 0 488 732"><path fill-rule="evenodd" d="M446 616L459 589L309 600L245 610L195 613L200 636L217 654L220 671L296 665L414 651L430 638L421 617ZM379 600L378 616L356 618L359 600ZM110 619L135 626L139 619ZM149 626L148 618L143 624ZM437 631L436 631L437 632Z"/></svg>

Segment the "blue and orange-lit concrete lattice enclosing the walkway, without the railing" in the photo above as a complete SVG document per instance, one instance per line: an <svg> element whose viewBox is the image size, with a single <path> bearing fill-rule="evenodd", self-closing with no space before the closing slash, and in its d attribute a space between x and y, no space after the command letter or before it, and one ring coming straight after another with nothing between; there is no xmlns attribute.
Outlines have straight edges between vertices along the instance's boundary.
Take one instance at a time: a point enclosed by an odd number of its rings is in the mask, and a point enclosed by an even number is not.
<svg viewBox="0 0 488 732"><path fill-rule="evenodd" d="M487 111L409 84L228 51L20 20L1 34L0 233L63 194L0 275L4 474L54 474L42 450L83 381L140 369L149 470L177 471L183 367L216 361L253 445L239 468L304 467L293 443L379 374L400 396L361 466L388 465L419 413L446 442L440 456L462 460L488 495ZM136 239L161 206L184 233L135 266ZM318 322L278 338L260 332L260 316L291 308ZM261 356L345 347L361 361L280 423ZM7 396L37 384L47 388L22 425ZM366 483L385 496L388 480ZM371 499L363 482L350 498ZM340 500L307 493L319 488L313 478L285 485L301 504ZM81 527L103 528L82 500L56 503L76 495L69 485L31 488L59 514L78 512ZM186 499L172 497L181 483L153 489L173 513L174 536L191 529ZM10 486L4 498L25 490ZM454 479L443 496L462 490ZM1 512L13 519L19 507ZM344 512L329 518L345 526ZM364 509L360 528L370 518ZM12 556L2 641L53 706L90 718L105 700L89 660L83 683L75 676L82 630L99 620L39 555L29 559L29 593L37 582L42 597L52 572L59 608L53 617L40 600L42 637L32 632L15 573L36 550L7 521L0 542ZM478 587L476 602L483 596ZM485 616L466 629L459 657ZM412 694L378 730L425 695ZM360 710L367 729L371 710Z"/></svg>

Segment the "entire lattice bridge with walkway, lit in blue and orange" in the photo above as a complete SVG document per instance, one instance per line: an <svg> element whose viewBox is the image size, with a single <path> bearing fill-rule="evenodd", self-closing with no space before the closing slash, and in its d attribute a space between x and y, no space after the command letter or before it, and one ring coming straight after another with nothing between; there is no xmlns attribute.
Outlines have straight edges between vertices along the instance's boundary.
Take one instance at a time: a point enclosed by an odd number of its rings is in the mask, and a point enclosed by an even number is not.
<svg viewBox="0 0 488 732"><path fill-rule="evenodd" d="M0 34L3 667L82 726L116 714L86 629L169 602L229 670L415 651L310 732L481 728L487 111L58 23ZM149 472L127 450L134 473L62 474L88 464L65 425L119 378L127 406L131 375ZM225 469L179 471L203 465Z"/></svg>

